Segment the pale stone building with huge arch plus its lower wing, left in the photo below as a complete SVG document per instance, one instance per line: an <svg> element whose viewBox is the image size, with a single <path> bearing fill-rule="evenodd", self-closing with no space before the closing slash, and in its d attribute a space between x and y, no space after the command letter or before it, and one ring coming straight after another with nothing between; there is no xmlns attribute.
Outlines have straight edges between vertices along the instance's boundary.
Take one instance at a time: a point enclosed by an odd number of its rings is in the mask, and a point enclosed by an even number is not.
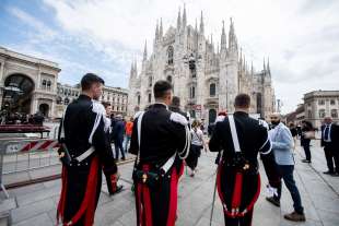
<svg viewBox="0 0 339 226"><path fill-rule="evenodd" d="M66 106L78 98L80 85L58 83L56 62L0 47L0 111L60 118ZM114 114L126 115L128 91L104 86L98 100L109 103Z"/></svg>

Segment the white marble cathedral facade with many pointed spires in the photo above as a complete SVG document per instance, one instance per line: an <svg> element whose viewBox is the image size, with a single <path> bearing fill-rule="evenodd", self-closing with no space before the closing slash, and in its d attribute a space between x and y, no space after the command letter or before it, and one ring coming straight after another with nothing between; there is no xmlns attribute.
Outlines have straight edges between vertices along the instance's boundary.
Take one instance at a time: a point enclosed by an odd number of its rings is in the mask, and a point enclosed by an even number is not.
<svg viewBox="0 0 339 226"><path fill-rule="evenodd" d="M204 36L203 16L199 27L187 25L186 9L177 17L176 27L163 32L162 21L156 25L153 52L148 56L144 46L141 71L133 62L129 79L128 115L154 103L152 87L157 80L173 84L174 95L180 97L182 109L192 118L213 122L219 110L234 111L238 93L252 97L250 112L267 117L274 111L274 91L269 62L260 71L248 66L238 47L234 23L229 36L224 23L221 45Z"/></svg>

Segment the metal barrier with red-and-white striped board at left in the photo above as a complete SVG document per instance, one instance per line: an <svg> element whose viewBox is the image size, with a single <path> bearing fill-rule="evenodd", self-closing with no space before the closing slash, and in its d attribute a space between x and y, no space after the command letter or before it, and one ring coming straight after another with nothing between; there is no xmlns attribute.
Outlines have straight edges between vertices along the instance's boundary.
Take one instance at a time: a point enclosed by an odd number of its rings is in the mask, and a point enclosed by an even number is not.
<svg viewBox="0 0 339 226"><path fill-rule="evenodd" d="M0 140L0 185L4 194L2 175L30 171L60 164L56 140L13 139Z"/></svg>

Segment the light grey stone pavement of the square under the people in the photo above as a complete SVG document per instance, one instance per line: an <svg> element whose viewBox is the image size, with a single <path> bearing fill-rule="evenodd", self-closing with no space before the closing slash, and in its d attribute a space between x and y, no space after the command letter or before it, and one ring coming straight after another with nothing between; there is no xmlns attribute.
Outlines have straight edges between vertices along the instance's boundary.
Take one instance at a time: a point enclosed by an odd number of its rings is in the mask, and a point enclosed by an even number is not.
<svg viewBox="0 0 339 226"><path fill-rule="evenodd" d="M301 163L303 151L297 147L295 159L295 180L302 194L307 221L291 223L283 219L283 214L293 210L292 200L283 187L281 207L278 209L265 200L266 175L261 171L261 194L255 205L255 226L338 226L339 225L339 177L324 175L326 163L318 142L312 146L313 163ZM179 185L177 226L209 225L213 186L215 179L214 154L202 153L195 178L183 176ZM125 191L108 197L105 185L95 214L95 225L131 226L136 225L135 200L130 192L132 164L119 167L120 183ZM12 223L15 226L56 225L56 206L60 193L60 180L26 186L9 191L16 199L17 209L12 211ZM213 224L223 225L222 207L217 198Z"/></svg>

